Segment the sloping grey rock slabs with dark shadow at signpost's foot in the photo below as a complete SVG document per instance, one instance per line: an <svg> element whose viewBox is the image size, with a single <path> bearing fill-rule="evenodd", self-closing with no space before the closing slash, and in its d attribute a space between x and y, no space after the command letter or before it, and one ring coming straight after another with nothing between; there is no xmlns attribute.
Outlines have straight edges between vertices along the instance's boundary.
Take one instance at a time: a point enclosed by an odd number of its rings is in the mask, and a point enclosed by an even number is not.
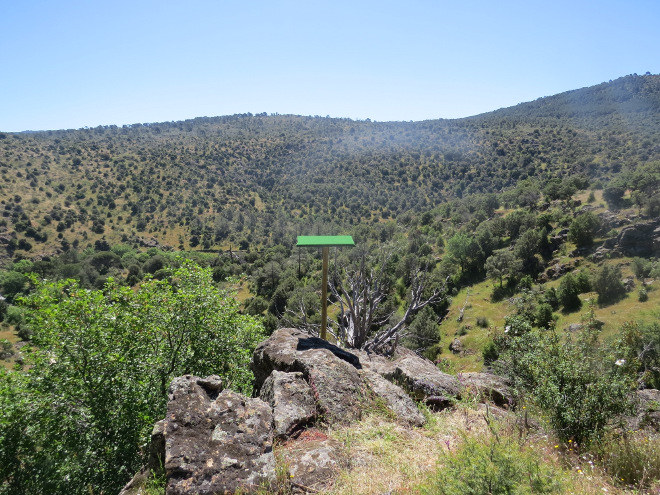
<svg viewBox="0 0 660 495"><path fill-rule="evenodd" d="M406 391L412 400L429 396L450 398L460 392L455 377L442 373L433 363L403 347L397 348L395 356L388 359L363 351L348 352L295 329L278 329L255 350L253 371L257 391L273 370L301 372L312 389L317 408L329 423L359 419L371 400L369 388L382 397L397 417L410 424L418 424L420 418L412 402L404 402ZM364 370L404 390L396 391ZM412 416L404 418L406 411Z"/></svg>

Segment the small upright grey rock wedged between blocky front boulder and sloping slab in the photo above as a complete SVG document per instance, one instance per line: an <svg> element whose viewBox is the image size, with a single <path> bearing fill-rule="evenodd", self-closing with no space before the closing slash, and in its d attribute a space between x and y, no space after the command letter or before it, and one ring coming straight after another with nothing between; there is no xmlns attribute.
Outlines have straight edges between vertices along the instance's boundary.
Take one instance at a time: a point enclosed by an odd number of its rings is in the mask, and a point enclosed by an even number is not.
<svg viewBox="0 0 660 495"><path fill-rule="evenodd" d="M273 408L275 436L285 438L316 418L314 392L300 372L273 370L259 397Z"/></svg>

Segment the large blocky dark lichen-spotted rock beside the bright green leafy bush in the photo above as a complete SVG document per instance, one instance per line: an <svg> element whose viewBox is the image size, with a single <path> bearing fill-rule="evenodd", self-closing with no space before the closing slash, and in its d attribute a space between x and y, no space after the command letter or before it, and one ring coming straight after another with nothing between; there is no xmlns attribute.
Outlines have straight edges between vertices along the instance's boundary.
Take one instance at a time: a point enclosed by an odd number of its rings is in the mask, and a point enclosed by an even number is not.
<svg viewBox="0 0 660 495"><path fill-rule="evenodd" d="M170 385L163 425L166 493L252 492L270 484L275 478L270 406L231 390L212 400L200 385L206 381L186 375Z"/></svg>

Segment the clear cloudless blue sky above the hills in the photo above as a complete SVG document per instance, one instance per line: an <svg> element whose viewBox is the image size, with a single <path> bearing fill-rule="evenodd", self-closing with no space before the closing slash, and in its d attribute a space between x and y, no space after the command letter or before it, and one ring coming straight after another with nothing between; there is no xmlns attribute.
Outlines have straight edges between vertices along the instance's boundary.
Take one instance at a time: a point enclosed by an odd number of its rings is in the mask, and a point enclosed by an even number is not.
<svg viewBox="0 0 660 495"><path fill-rule="evenodd" d="M475 115L660 73L653 1L2 2L0 131Z"/></svg>

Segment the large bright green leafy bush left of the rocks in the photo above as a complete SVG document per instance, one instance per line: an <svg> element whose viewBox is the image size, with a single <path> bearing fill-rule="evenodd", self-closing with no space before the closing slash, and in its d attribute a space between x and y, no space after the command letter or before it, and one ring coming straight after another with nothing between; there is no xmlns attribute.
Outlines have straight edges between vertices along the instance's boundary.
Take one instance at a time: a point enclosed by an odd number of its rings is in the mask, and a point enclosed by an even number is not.
<svg viewBox="0 0 660 495"><path fill-rule="evenodd" d="M136 291L41 282L23 304L35 346L25 373L3 381L0 402L13 405L2 408L0 492L119 491L144 462L174 376L217 374L251 392L263 328L210 269L186 262Z"/></svg>

